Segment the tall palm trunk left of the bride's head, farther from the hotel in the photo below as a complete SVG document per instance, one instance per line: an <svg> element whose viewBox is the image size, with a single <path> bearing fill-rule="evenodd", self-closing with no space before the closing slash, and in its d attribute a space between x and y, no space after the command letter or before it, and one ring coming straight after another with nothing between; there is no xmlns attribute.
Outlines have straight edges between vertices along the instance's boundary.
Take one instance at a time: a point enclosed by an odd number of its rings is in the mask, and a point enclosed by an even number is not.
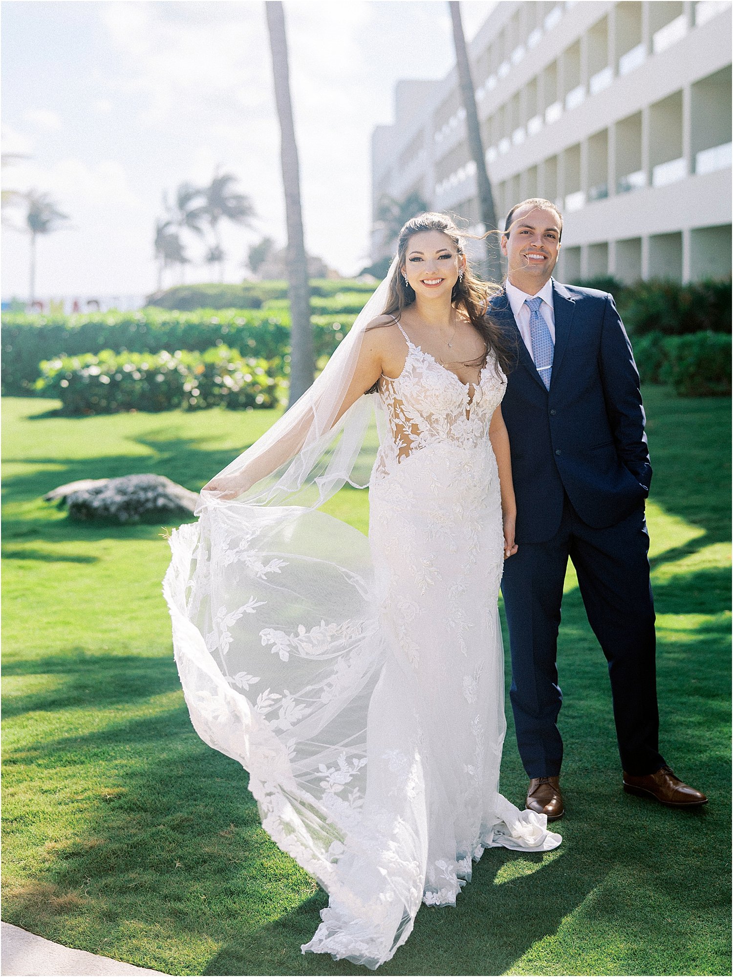
<svg viewBox="0 0 733 977"><path fill-rule="evenodd" d="M290 396L292 406L313 383L313 333L308 258L303 241L303 212L300 204L298 148L290 101L290 72L287 64L285 17L280 0L265 4L273 56L275 101L280 119L280 161L285 191L287 220L287 295L290 300Z"/></svg>

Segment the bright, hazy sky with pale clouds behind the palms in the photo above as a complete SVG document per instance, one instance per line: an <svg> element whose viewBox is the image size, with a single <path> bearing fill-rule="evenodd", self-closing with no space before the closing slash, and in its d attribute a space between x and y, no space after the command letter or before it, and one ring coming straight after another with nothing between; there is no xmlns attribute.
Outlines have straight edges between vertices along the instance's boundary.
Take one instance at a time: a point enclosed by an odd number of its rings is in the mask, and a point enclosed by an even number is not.
<svg viewBox="0 0 733 977"><path fill-rule="evenodd" d="M495 6L464 0L470 39ZM306 247L339 272L368 264L369 147L401 78L454 64L444 0L285 0ZM70 220L38 242L41 298L151 292L161 196L233 173L257 218L224 234L225 280L248 247L285 242L280 130L261 0L4 0L6 189L49 191ZM2 296L27 295L22 212L3 227ZM187 280L211 280L189 241ZM180 280L178 270L166 283Z"/></svg>

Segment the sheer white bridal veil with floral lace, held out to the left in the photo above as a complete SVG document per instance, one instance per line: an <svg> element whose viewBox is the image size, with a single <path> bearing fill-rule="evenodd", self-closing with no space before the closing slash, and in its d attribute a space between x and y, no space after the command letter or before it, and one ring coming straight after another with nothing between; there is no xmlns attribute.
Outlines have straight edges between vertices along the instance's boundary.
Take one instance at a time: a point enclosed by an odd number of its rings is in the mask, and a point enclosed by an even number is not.
<svg viewBox="0 0 733 977"><path fill-rule="evenodd" d="M196 732L249 772L264 828L329 894L307 949L371 967L422 899L415 694L385 654L367 537L319 507L368 480L375 397L341 406L396 266L311 389L201 492L164 581Z"/></svg>

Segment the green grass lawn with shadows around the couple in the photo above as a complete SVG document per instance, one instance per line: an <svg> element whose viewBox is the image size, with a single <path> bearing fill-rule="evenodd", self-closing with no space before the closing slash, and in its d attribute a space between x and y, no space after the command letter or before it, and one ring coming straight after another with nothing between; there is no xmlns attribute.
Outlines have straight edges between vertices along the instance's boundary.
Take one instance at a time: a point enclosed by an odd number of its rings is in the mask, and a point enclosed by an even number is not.
<svg viewBox="0 0 733 977"><path fill-rule="evenodd" d="M663 750L697 812L621 790L605 661L563 605L563 844L486 852L382 974L730 973L730 402L646 392ZM69 419L6 400L3 918L169 974L364 973L301 956L325 896L198 740L171 654L157 527L69 523L42 494L155 472L199 488L269 411ZM367 493L329 511L367 526ZM509 716L502 790L526 785Z"/></svg>

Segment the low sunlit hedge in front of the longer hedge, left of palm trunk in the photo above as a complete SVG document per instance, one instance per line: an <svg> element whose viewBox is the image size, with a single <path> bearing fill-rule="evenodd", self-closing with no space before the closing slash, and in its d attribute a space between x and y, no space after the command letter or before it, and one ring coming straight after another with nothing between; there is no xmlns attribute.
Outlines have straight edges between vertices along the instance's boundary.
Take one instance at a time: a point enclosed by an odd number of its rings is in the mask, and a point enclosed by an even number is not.
<svg viewBox="0 0 733 977"><path fill-rule="evenodd" d="M287 385L273 364L218 346L204 353L121 353L65 357L41 363L36 389L58 398L66 414L120 410L235 410L283 404Z"/></svg>

